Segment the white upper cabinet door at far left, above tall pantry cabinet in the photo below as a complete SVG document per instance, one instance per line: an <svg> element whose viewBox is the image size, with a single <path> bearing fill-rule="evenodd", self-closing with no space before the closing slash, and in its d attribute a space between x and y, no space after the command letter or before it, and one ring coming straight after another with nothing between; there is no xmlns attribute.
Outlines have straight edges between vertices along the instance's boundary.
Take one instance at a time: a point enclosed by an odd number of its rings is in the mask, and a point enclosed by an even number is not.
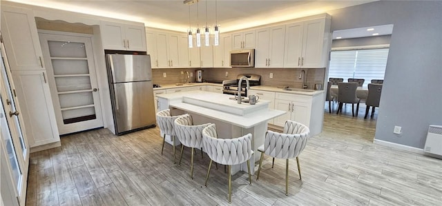
<svg viewBox="0 0 442 206"><path fill-rule="evenodd" d="M34 13L25 8L1 6L1 35L11 70L44 70Z"/></svg>

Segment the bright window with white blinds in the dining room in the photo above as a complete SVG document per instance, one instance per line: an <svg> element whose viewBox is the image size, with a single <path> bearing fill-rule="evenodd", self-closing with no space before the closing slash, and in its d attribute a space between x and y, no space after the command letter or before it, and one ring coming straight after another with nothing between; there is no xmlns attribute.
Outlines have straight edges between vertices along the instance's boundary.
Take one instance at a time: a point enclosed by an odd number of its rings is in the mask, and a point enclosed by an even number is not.
<svg viewBox="0 0 442 206"><path fill-rule="evenodd" d="M388 48L367 50L336 50L330 54L329 77L365 79L364 87L372 79L384 79Z"/></svg>

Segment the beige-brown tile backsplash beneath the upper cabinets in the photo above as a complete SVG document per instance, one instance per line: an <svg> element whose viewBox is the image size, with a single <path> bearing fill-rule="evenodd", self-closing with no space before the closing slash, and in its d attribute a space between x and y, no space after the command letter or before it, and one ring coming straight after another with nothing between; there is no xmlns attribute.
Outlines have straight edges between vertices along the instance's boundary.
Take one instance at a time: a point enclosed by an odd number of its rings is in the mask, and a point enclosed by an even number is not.
<svg viewBox="0 0 442 206"><path fill-rule="evenodd" d="M195 82L195 70L198 68L184 68L184 69L153 69L153 83L169 84L182 83L184 75L181 72L193 72L189 79L190 82ZM222 81L226 79L236 79L238 74L260 74L261 85L268 85L273 87L302 87L302 79L299 79L299 74L302 70L307 73L308 89L314 89L315 83L324 84L325 68L204 68L204 81ZM163 77L163 73L166 77ZM226 72L229 74L225 76ZM273 78L270 78L270 73L273 73Z"/></svg>

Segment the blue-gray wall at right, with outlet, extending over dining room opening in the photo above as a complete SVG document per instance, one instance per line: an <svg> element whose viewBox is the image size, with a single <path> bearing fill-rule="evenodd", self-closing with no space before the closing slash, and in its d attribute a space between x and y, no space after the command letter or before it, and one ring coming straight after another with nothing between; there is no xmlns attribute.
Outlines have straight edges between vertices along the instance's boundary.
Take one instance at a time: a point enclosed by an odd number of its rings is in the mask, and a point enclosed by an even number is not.
<svg viewBox="0 0 442 206"><path fill-rule="evenodd" d="M423 148L428 125L442 125L442 1L375 1L328 13L332 31L394 24L375 138Z"/></svg>

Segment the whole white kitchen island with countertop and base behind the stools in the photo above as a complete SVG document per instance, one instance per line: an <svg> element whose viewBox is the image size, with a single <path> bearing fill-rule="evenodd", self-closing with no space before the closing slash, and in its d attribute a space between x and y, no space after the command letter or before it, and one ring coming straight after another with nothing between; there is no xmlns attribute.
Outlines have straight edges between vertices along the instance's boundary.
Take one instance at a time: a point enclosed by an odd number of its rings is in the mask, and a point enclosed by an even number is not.
<svg viewBox="0 0 442 206"><path fill-rule="evenodd" d="M264 143L267 121L286 112L269 109L270 101L260 100L255 105L238 104L229 94L204 91L177 92L157 95L161 110L170 108L173 115L191 114L194 124L215 123L218 138L232 138L252 134L251 162L256 163L260 154L257 148ZM166 139L166 141L168 141ZM170 141L168 141L171 143ZM232 167L232 172L247 171L247 164ZM251 171L254 172L254 169Z"/></svg>

